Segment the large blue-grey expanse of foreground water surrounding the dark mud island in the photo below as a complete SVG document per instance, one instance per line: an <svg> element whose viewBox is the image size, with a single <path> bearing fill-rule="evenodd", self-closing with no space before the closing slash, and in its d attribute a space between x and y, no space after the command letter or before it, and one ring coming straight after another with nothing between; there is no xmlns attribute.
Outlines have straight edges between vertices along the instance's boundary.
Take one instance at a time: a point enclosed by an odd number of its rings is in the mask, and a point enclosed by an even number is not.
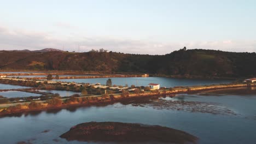
<svg viewBox="0 0 256 144"><path fill-rule="evenodd" d="M171 100L206 101L218 103L237 115L157 110L151 106L138 107L120 103L102 107L43 111L28 115L0 118L0 143L31 140L32 143L83 143L67 142L59 136L73 125L83 122L129 122L162 125L187 131L200 138L199 143L255 143L256 93L251 95L181 94ZM50 130L48 133L42 133ZM3 138L4 137L4 138ZM53 141L54 139L59 142Z"/></svg>

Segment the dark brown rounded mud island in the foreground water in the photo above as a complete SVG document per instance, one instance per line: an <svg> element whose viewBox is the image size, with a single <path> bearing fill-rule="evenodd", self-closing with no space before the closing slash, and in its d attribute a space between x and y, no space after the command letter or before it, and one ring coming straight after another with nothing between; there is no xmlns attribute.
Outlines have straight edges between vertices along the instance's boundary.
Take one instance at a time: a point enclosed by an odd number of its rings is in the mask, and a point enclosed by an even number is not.
<svg viewBox="0 0 256 144"><path fill-rule="evenodd" d="M159 125L89 122L72 127L60 136L67 141L196 143L197 137Z"/></svg>

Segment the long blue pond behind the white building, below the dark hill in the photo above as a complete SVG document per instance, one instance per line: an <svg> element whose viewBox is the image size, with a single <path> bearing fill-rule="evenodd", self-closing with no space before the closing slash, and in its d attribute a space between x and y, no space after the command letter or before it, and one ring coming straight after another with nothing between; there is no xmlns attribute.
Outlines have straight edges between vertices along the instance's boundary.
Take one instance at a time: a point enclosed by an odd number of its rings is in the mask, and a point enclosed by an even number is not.
<svg viewBox="0 0 256 144"><path fill-rule="evenodd" d="M230 83L231 80L207 80L207 79L173 79L167 77L112 77L113 85L128 86L148 86L148 83L159 83L160 87L174 86L199 86L219 83ZM67 82L101 83L106 85L108 78L97 79L62 79Z"/></svg>

